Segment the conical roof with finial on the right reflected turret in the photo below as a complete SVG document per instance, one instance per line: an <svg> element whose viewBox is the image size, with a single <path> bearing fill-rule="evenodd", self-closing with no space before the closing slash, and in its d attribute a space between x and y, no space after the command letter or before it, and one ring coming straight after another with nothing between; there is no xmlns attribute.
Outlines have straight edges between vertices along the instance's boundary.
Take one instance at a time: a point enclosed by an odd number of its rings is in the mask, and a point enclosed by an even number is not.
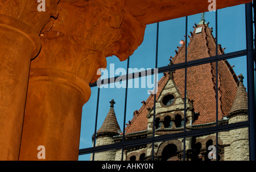
<svg viewBox="0 0 256 172"><path fill-rule="evenodd" d="M234 99L233 106L231 107L230 114L239 110L248 110L247 107L247 92L243 85L243 75L238 75L239 85L237 89L236 98Z"/></svg>

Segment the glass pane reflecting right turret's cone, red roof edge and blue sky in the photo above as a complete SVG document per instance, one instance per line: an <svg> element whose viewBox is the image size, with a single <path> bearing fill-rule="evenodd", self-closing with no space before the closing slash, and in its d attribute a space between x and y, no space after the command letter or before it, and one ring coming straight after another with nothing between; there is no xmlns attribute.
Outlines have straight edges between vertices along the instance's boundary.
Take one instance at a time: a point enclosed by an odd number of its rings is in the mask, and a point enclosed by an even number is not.
<svg viewBox="0 0 256 172"><path fill-rule="evenodd" d="M219 124L248 120L246 57L218 61ZM239 116L239 117L238 117Z"/></svg>

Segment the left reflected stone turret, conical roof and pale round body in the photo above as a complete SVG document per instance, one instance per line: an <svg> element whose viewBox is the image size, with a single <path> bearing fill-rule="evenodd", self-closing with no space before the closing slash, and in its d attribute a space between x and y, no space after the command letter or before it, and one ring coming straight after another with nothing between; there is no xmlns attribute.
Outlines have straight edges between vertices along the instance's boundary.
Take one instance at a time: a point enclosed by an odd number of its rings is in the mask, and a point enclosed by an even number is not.
<svg viewBox="0 0 256 172"><path fill-rule="evenodd" d="M108 115L106 116L101 128L98 129L97 131L96 146L114 144L113 136L117 136L121 133L121 129L117 122L117 118L115 116L115 111L114 111L115 102L112 99L109 103L110 103L110 110L108 112ZM114 161L115 152L116 150L113 149L105 152L95 153L94 160ZM91 156L91 159L92 159L92 156Z"/></svg>

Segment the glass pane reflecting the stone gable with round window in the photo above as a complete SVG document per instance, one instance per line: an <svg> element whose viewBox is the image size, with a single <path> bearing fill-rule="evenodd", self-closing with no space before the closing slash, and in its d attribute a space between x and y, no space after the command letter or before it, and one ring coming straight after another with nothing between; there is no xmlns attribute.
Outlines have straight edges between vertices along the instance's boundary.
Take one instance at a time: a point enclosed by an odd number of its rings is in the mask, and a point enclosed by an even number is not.
<svg viewBox="0 0 256 172"><path fill-rule="evenodd" d="M189 114L184 118L185 69L163 73L158 82L155 104L155 136L184 131ZM150 111L148 126L152 125L154 110Z"/></svg>

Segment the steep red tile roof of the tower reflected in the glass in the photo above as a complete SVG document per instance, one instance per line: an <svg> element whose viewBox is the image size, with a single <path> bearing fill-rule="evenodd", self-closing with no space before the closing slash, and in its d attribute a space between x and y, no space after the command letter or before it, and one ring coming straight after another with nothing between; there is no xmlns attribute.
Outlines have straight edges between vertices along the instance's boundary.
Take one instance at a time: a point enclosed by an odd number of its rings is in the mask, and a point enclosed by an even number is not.
<svg viewBox="0 0 256 172"><path fill-rule="evenodd" d="M201 33L195 33L196 28L202 27ZM195 30L189 36L187 61L197 60L205 57L215 56L216 43L212 35L212 28L208 24L200 24L194 27ZM218 45L218 54L224 54L224 49ZM184 44L176 51L172 58L174 64L185 61ZM174 81L184 97L184 69L176 70ZM159 91L156 94L156 100L161 90L166 85L169 75L159 80ZM229 62L226 60L218 61L218 119L222 119L230 112L237 93L238 78L234 73ZM199 112L199 117L193 124L210 123L216 120L216 64L215 62L197 65L187 68L187 90L188 98L193 100L195 112ZM127 124L126 133L133 133L147 130L147 108L154 106L154 95L150 95L143 103L141 109L134 115L130 124Z"/></svg>

